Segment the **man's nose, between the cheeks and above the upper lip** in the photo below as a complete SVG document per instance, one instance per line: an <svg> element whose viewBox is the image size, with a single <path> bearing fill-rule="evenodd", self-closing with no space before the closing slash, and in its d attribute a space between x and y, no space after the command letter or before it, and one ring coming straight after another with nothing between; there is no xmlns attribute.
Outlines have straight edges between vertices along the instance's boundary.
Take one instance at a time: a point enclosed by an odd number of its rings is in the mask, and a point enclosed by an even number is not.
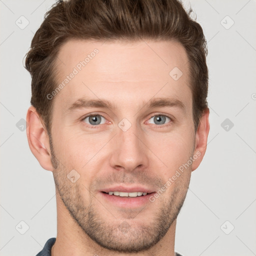
<svg viewBox="0 0 256 256"><path fill-rule="evenodd" d="M117 127L117 134L111 141L111 167L126 171L146 168L149 149L144 140L142 131L134 124L126 131Z"/></svg>

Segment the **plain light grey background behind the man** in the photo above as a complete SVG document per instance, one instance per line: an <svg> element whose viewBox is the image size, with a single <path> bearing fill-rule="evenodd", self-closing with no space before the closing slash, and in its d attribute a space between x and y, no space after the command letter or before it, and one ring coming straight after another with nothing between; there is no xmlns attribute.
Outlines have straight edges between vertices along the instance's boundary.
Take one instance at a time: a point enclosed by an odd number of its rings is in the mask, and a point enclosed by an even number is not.
<svg viewBox="0 0 256 256"><path fill-rule="evenodd" d="M22 131L31 96L22 61L53 3L0 0L0 256L34 256L56 237L52 173L39 165ZM184 256L256 255L256 2L190 4L208 44L210 132L177 218L175 250Z"/></svg>

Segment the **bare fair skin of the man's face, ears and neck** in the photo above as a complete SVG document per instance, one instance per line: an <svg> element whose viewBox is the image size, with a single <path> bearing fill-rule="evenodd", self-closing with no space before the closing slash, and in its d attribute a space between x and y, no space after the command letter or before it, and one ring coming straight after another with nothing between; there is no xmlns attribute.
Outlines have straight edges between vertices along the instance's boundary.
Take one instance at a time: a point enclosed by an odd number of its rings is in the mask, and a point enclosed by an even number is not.
<svg viewBox="0 0 256 256"><path fill-rule="evenodd" d="M174 256L176 217L206 150L209 110L195 132L188 59L176 41L69 40L58 52L58 81L94 48L95 57L51 99L51 140L35 108L27 111L29 147L55 181L57 237L51 255ZM169 75L175 66L183 73L178 80ZM107 99L116 108L65 112L80 97ZM156 97L179 99L185 109L144 106ZM91 113L104 117L101 124L91 127L83 119ZM158 124L157 114L172 120ZM123 118L131 123L126 131L118 126ZM144 207L116 207L99 192L112 184L158 191L196 152L192 164ZM72 169L80 175L74 183L67 178Z"/></svg>

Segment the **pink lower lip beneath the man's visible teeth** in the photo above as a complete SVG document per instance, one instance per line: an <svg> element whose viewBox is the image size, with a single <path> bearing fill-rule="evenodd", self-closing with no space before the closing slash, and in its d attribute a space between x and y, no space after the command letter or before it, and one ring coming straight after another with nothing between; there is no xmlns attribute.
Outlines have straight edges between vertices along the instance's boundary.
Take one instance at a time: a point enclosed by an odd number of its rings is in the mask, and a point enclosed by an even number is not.
<svg viewBox="0 0 256 256"><path fill-rule="evenodd" d="M149 201L149 197L152 195L152 193L136 196L136 197L122 197L118 195L110 195L108 193L100 192L100 194L103 196L105 200L108 202L115 204L119 207L126 207L126 208L136 208L143 206Z"/></svg>

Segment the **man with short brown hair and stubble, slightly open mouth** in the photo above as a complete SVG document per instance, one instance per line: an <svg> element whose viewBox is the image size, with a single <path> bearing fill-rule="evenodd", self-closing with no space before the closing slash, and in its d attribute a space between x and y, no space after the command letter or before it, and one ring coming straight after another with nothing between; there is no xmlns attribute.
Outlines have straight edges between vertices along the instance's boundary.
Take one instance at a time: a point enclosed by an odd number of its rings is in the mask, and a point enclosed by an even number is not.
<svg viewBox="0 0 256 256"><path fill-rule="evenodd" d="M179 255L176 218L209 132L201 26L176 0L68 0L26 56L29 147L52 171L39 255Z"/></svg>

